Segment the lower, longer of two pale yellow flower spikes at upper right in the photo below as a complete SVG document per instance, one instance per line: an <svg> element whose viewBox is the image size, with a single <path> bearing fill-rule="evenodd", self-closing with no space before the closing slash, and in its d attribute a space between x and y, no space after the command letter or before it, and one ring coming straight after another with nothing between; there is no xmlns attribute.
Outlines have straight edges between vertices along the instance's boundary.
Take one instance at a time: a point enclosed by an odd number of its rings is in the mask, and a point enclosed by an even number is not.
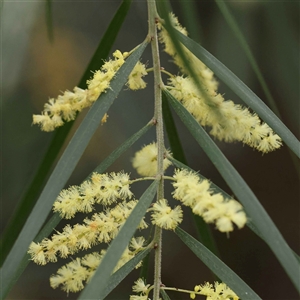
<svg viewBox="0 0 300 300"><path fill-rule="evenodd" d="M170 78L169 84L170 93L201 125L210 126L210 133L219 140L241 141L264 153L281 146L280 137L247 108L224 101L221 94L213 91L210 94L211 103L207 103L189 77Z"/></svg>

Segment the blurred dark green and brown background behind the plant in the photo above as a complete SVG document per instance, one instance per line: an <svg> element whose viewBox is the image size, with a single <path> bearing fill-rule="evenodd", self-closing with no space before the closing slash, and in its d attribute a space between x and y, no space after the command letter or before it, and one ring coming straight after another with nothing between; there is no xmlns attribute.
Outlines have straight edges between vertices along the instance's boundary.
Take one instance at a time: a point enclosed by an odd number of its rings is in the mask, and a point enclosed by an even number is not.
<svg viewBox="0 0 300 300"><path fill-rule="evenodd" d="M189 19L186 19L188 16L183 9L186 1L171 3L180 22L188 26ZM198 22L197 36L193 38L264 100L257 78L217 5L214 1L193 3ZM284 123L299 139L299 2L226 3L258 61ZM120 1L53 1L54 35L50 41L45 2L2 3L1 232L30 184L53 136L31 125L32 114L40 113L49 97L56 97L60 91L71 90L78 84L119 4ZM193 34L193 30L190 31ZM146 34L146 1L133 1L114 50L129 51ZM150 48L142 60L151 66ZM165 54L162 54L162 66L177 73ZM68 185L79 184L115 147L151 119L152 74L147 76L146 81L148 86L142 91L132 92L124 88L109 111L108 122L94 135ZM225 94L225 99L241 103L222 83L219 91ZM73 132L84 114L81 113L76 120ZM232 194L181 122L177 118L175 120L189 165ZM154 140L155 132L151 130L109 171L125 170L133 177L137 176L131 166L131 158L142 145ZM299 177L287 147L262 156L238 143L218 142L218 145L254 191L290 247L299 254ZM142 193L143 187L143 184L138 186L135 190L137 195ZM170 199L169 190L168 194ZM182 227L196 236L188 210L185 211ZM262 299L298 299L272 252L249 229L236 230L229 237L215 230L213 233L224 262ZM58 267L58 263L43 267L30 263L8 299L76 298L77 295L67 297L59 289L50 288L49 276ZM150 282L152 272L150 267ZM128 299L138 274L134 271L108 299ZM213 277L172 232L167 232L163 244L162 280L167 286L192 289L196 284L213 281ZM170 297L189 299L179 293L170 293Z"/></svg>

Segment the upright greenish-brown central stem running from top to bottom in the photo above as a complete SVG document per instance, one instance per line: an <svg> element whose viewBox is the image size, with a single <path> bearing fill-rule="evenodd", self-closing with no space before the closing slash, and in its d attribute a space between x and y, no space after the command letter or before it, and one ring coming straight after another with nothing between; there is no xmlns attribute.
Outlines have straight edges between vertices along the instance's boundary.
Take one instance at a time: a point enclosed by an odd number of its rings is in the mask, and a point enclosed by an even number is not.
<svg viewBox="0 0 300 300"><path fill-rule="evenodd" d="M158 38L156 29L156 20L158 18L156 3L153 0L147 0L148 3L148 21L149 21L149 38L151 40L151 50L153 59L154 74L154 119L156 120L156 139L157 139L157 177L160 183L157 189L157 199L164 198L164 181L163 181L163 160L164 160L164 131L162 117L162 95L161 95L161 69L159 59ZM154 290L153 299L159 299L159 290L161 286L161 259L162 259L162 229L155 227L154 233L155 258L154 258Z"/></svg>

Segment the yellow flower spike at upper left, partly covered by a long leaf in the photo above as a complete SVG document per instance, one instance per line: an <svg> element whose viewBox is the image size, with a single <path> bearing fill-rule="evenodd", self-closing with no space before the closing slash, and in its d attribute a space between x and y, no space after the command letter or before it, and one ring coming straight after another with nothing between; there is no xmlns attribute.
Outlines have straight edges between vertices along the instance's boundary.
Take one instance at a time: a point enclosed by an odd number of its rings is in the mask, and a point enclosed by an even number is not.
<svg viewBox="0 0 300 300"><path fill-rule="evenodd" d="M91 106L109 89L111 80L128 55L128 52L115 51L114 59L106 61L100 70L94 72L93 78L87 81L87 89L75 87L73 92L65 91L56 99L51 98L40 115L33 115L33 124L39 124L43 131L53 131L64 122L74 120L78 112ZM138 62L128 77L129 88L133 90L144 88L146 83L141 78L146 74L145 65ZM102 119L102 123L106 122L106 119L107 115Z"/></svg>

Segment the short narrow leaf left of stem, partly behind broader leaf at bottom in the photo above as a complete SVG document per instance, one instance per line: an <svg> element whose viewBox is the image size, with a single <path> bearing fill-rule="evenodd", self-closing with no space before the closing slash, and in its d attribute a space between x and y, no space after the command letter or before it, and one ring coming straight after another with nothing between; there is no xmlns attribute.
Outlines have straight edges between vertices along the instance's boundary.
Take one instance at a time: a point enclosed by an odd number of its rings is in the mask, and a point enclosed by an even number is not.
<svg viewBox="0 0 300 300"><path fill-rule="evenodd" d="M117 272L112 274L107 282L106 288L103 291L103 298L105 298L133 269L134 267L147 255L149 255L151 248L147 248L139 252L134 258L128 261Z"/></svg>

